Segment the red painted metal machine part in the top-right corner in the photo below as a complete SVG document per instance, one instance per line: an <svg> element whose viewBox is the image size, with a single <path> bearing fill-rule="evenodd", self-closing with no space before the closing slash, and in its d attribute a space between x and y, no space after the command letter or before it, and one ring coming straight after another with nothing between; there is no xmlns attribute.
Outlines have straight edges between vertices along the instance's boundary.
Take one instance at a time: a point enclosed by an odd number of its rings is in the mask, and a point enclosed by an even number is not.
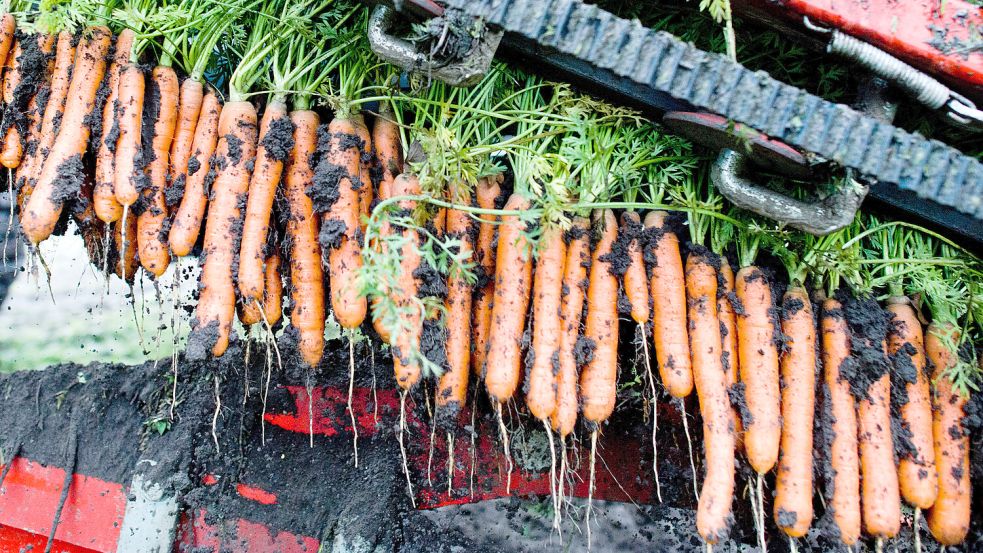
<svg viewBox="0 0 983 553"><path fill-rule="evenodd" d="M802 28L802 17L869 42L930 73L967 96L983 97L983 52L945 53L983 38L983 9L965 0L735 0L738 13L752 10ZM938 35L938 38L937 38Z"/></svg>

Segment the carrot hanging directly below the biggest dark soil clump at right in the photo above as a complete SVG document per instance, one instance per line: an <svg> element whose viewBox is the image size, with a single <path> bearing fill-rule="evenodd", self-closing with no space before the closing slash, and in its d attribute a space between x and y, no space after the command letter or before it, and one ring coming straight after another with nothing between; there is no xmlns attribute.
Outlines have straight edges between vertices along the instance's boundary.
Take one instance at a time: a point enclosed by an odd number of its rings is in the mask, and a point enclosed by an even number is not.
<svg viewBox="0 0 983 553"><path fill-rule="evenodd" d="M885 354L887 344L883 344ZM901 529L901 492L891 437L891 375L886 371L857 404L860 436L860 499L864 528L877 538Z"/></svg>

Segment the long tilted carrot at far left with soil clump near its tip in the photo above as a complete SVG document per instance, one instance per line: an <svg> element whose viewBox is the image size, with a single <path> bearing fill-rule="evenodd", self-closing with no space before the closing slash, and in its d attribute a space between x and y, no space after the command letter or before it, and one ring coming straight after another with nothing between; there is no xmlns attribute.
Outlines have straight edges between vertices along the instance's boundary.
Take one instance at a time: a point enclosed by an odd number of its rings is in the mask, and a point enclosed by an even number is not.
<svg viewBox="0 0 983 553"><path fill-rule="evenodd" d="M109 42L109 29L93 27L76 53L65 116L21 218L24 233L35 244L51 235L65 200L81 186L82 156L92 130L88 117L96 106Z"/></svg>

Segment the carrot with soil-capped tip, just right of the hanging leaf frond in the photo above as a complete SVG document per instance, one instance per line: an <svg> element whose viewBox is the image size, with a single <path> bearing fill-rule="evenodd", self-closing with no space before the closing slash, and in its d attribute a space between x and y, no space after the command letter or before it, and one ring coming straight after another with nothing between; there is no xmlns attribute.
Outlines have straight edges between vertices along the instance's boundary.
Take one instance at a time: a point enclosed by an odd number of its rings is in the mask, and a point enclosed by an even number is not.
<svg viewBox="0 0 983 553"><path fill-rule="evenodd" d="M466 196L453 190L455 202L469 203ZM447 210L447 236L463 242L462 253L470 262L473 255L471 245L471 216L459 209ZM444 320L447 329L447 367L437 384L437 406L453 420L468 392L468 375L471 372L471 285L462 271L452 272L447 277L447 298L444 300L447 316Z"/></svg>

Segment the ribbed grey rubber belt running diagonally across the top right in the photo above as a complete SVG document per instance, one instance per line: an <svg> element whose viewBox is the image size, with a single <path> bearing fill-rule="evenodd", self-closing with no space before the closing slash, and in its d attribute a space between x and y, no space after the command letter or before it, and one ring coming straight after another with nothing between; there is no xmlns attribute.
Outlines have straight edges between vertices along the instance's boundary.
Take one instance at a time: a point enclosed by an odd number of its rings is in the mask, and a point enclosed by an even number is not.
<svg viewBox="0 0 983 553"><path fill-rule="evenodd" d="M928 140L751 71L673 35L653 31L580 0L445 0L487 23L641 85L628 94L666 94L678 107L713 112L894 184L910 196L983 220L983 164ZM624 91L622 91L624 92ZM659 100L667 104L665 100ZM644 102L644 100L643 100ZM876 193L880 185L875 185ZM931 217L930 217L931 218ZM959 217L963 219L962 217ZM952 226L952 221L936 221ZM979 240L979 237L975 237Z"/></svg>

